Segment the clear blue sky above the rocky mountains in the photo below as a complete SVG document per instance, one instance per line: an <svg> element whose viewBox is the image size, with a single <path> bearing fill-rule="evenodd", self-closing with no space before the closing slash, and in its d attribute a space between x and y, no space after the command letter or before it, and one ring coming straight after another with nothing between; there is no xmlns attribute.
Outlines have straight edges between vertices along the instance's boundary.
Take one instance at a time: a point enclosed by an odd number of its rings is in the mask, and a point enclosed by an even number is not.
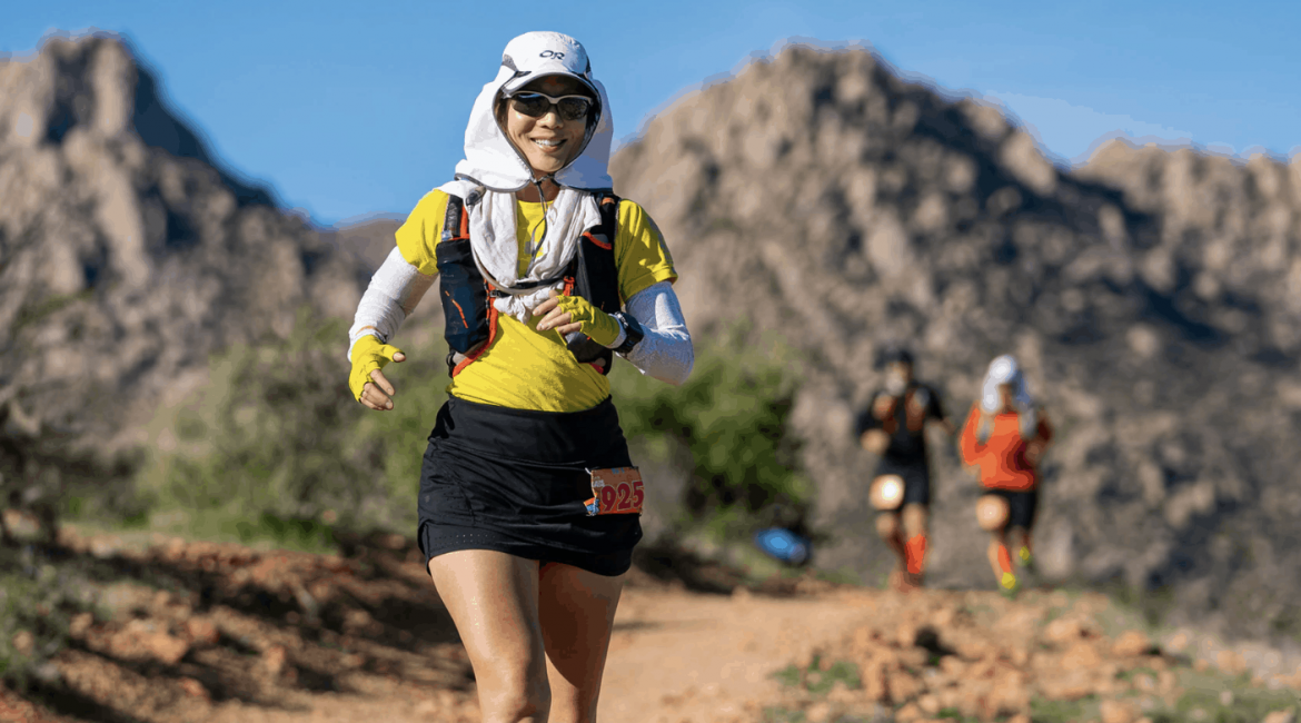
<svg viewBox="0 0 1301 723"><path fill-rule="evenodd" d="M1301 151L1301 4L822 1L643 4L5 3L0 51L52 30L131 39L226 164L317 222L405 213L450 178L510 38L578 38L615 137L787 39L860 44L904 74L997 99L1062 161L1102 135ZM3 103L3 99L0 99Z"/></svg>

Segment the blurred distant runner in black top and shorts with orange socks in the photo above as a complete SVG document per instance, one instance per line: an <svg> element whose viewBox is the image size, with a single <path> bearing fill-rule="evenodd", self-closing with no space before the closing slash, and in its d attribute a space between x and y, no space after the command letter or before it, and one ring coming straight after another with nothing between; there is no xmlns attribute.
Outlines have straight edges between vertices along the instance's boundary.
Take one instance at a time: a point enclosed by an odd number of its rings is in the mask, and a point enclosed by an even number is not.
<svg viewBox="0 0 1301 723"><path fill-rule="evenodd" d="M885 365L886 384L859 415L857 433L864 449L881 455L869 495L878 511L877 533L899 557L890 585L911 590L922 584L925 571L930 506L926 423L938 423L950 436L955 429L945 419L939 394L913 378L913 360L907 350L887 348L879 362ZM883 486L891 484L891 477L892 490Z"/></svg>

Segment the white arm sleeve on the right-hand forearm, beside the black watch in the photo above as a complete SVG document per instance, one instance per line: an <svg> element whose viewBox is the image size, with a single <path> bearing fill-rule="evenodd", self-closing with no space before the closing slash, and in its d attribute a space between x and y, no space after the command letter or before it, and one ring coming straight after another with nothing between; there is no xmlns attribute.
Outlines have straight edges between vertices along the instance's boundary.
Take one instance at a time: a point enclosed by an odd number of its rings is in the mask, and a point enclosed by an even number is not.
<svg viewBox="0 0 1301 723"><path fill-rule="evenodd" d="M645 335L624 359L643 375L680 386L691 376L696 356L673 285L661 281L635 294L628 299L627 312L641 324ZM621 343L623 332L614 346Z"/></svg>

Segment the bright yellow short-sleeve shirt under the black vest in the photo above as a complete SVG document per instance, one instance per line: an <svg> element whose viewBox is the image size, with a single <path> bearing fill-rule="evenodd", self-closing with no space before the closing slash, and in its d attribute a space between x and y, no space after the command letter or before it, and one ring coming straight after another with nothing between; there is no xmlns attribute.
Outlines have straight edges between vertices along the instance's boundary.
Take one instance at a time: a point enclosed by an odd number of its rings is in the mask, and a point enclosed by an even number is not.
<svg viewBox="0 0 1301 723"><path fill-rule="evenodd" d="M519 270L523 274L528 268L530 238L543 238L543 204L516 200L515 207ZM438 273L435 250L442 235L446 211L448 195L429 191L397 230L402 257L423 274ZM650 216L631 200L619 203L614 263L619 269L621 302L624 303L653 283L678 278L664 235ZM438 308L437 313L441 311ZM500 315L496 341L451 380L448 394L481 404L546 412L589 410L609 397L610 381L589 364L579 364L558 332L537 332L537 321L539 317L533 317L520 324L514 317Z"/></svg>

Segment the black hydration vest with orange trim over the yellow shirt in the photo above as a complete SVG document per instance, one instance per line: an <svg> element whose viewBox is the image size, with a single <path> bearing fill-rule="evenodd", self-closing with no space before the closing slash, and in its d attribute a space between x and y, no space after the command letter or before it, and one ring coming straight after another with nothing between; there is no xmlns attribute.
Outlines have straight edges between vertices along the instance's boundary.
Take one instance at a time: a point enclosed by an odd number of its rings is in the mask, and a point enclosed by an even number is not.
<svg viewBox="0 0 1301 723"><path fill-rule="evenodd" d="M474 194L471 194L474 196ZM471 199L472 202L477 199ZM614 234L619 221L619 198L596 194L601 222L583 231L578 254L557 278L522 285L522 289L565 282L563 294L582 296L596 308L619 311L619 274L614 263ZM448 195L448 212L442 220L442 238L435 250L438 267L438 298L442 302L442 335L448 341L448 373L455 377L483 355L497 339L497 307L493 299L507 296L485 280L475 264L470 246L470 215L464 200ZM610 373L614 352L593 342L587 334L574 332L565 343L582 364Z"/></svg>

